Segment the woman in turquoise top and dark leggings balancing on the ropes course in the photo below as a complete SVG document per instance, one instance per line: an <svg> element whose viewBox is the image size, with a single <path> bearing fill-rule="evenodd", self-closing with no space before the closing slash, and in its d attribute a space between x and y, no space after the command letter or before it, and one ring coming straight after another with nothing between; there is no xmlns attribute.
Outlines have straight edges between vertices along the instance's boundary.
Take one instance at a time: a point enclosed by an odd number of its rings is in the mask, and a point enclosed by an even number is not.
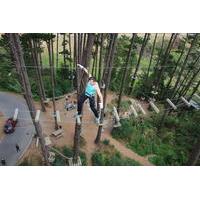
<svg viewBox="0 0 200 200"><path fill-rule="evenodd" d="M83 67L80 64L77 64L77 66L80 67L80 69L84 70L84 72L89 76L89 80L88 83L86 84L85 91L83 92L83 94L80 95L80 98L78 99L78 107L77 107L78 115L80 116L82 113L83 103L85 102L85 100L89 99L90 108L96 117L96 123L99 123L100 121L99 113L97 112L97 109L95 107L95 96L97 93L100 99L99 107L100 109L103 109L103 96L101 94L99 85L95 77L91 76L91 74L89 74L88 70L85 67Z"/></svg>

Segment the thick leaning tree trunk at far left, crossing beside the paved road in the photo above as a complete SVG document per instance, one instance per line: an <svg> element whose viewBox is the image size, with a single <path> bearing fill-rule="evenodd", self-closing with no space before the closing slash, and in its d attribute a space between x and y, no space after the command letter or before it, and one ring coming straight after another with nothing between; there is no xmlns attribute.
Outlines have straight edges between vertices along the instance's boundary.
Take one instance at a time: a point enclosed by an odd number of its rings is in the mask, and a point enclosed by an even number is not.
<svg viewBox="0 0 200 200"><path fill-rule="evenodd" d="M45 146L45 141L42 134L41 125L39 122L35 122L36 109L35 109L35 105L32 98L31 87L30 87L28 74L26 71L25 63L24 63L23 51L20 45L19 35L16 33L9 33L7 35L8 35L10 49L12 52L15 67L19 75L19 80L21 82L22 89L24 91L24 97L28 105L28 108L30 110L30 114L31 114L33 125L36 130L36 134L39 137L45 164L50 165L49 160L48 160L49 152L48 152L47 147Z"/></svg>

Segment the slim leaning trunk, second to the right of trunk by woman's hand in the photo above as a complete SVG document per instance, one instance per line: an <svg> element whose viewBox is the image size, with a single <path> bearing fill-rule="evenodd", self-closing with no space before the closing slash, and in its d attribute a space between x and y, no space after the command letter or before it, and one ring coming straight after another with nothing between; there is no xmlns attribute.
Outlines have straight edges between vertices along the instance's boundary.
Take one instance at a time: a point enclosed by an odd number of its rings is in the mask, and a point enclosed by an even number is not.
<svg viewBox="0 0 200 200"><path fill-rule="evenodd" d="M144 49L145 49L145 46L146 46L146 44L147 44L147 39L148 39L148 34L145 33L145 36L144 36L143 41L142 41L142 47L141 47L141 50L140 50L138 62L137 62L136 68L135 68L135 72L134 72L134 74L133 74L133 80L132 80L132 82L131 82L131 86L130 86L130 90L129 90L129 95L133 92L133 87L134 87L136 75L137 75L137 72L138 72L139 67L140 67L141 58L142 58L142 56L143 56L143 54L144 54Z"/></svg>

